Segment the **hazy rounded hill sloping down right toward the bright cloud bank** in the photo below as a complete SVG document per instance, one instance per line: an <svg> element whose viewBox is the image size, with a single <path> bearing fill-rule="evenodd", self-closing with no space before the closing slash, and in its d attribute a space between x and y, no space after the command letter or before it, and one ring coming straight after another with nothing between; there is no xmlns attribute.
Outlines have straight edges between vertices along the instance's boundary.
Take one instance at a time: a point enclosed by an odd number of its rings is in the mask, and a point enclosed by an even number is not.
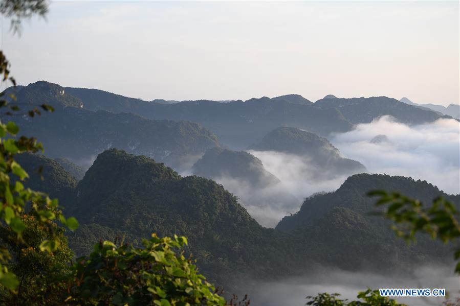
<svg viewBox="0 0 460 306"><path fill-rule="evenodd" d="M250 147L255 151L277 151L304 157L316 169L315 176L335 176L366 172L360 162L341 156L324 137L292 127L277 128Z"/></svg>

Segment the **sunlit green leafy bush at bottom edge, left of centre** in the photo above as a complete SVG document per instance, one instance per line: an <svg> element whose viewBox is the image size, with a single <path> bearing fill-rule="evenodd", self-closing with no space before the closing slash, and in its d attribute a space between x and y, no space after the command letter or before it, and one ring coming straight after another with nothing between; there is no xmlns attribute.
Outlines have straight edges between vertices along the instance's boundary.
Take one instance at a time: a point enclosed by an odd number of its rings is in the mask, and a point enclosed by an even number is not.
<svg viewBox="0 0 460 306"><path fill-rule="evenodd" d="M76 284L68 303L114 305L224 305L215 288L196 266L174 249L187 245L185 237L142 241L142 248L96 244L89 257L74 266Z"/></svg>

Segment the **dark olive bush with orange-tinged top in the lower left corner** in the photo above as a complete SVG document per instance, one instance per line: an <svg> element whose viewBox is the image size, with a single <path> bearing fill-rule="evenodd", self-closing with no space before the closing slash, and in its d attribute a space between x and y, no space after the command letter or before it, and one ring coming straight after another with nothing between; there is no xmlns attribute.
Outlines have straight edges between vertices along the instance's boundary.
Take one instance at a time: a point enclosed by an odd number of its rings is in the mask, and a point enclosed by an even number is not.
<svg viewBox="0 0 460 306"><path fill-rule="evenodd" d="M35 217L24 215L27 228L23 231L23 242L14 238L11 228L0 228L0 239L10 247L13 260L9 267L19 279L15 292L0 291L0 300L8 305L59 304L61 292L67 289L62 280L70 273L73 252L67 246L67 238L62 227L52 221L45 226ZM43 252L40 244L52 239L49 227L52 227L55 240L59 242L52 252Z"/></svg>

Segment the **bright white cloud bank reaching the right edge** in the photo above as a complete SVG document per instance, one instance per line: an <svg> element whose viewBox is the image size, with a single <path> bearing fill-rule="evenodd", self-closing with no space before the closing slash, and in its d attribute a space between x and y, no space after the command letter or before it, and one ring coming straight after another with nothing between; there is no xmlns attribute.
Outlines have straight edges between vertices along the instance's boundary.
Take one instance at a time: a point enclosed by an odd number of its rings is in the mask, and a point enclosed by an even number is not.
<svg viewBox="0 0 460 306"><path fill-rule="evenodd" d="M387 136L388 141L371 143L377 135ZM343 155L362 162L370 173L410 176L446 193L460 193L460 123L455 120L407 126L383 116L330 140Z"/></svg>

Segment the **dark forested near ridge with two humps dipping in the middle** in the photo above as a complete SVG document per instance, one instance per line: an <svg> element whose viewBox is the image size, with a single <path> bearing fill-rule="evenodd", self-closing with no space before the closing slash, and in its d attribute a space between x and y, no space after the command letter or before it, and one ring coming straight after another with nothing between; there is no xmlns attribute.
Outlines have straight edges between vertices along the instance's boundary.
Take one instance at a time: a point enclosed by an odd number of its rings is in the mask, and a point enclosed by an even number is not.
<svg viewBox="0 0 460 306"><path fill-rule="evenodd" d="M41 163L42 158L34 160ZM55 170L65 173L62 167ZM151 232L185 235L187 251L198 258L201 270L231 288L247 277L304 275L318 265L389 273L450 258L448 248L426 237L407 246L381 217L369 216L374 200L365 194L373 189L398 190L427 201L436 196L459 201L426 182L360 174L336 192L306 199L299 213L273 230L261 227L214 181L181 177L150 158L111 149L98 156L69 192L73 201L63 205L81 224L69 236L77 254L88 252L101 238L124 236L125 242L138 243Z"/></svg>

